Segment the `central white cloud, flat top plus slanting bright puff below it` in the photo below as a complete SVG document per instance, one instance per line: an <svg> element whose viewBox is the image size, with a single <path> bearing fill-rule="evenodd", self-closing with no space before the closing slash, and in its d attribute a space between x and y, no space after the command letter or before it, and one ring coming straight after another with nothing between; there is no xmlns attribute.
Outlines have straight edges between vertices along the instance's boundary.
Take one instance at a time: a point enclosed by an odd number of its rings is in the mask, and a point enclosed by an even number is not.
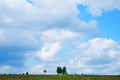
<svg viewBox="0 0 120 80"><path fill-rule="evenodd" d="M73 39L80 36L76 32L69 30L48 30L42 33L41 40L43 40L43 46L40 51L36 53L36 56L44 61L53 60L56 54L61 50L64 41Z"/></svg>

